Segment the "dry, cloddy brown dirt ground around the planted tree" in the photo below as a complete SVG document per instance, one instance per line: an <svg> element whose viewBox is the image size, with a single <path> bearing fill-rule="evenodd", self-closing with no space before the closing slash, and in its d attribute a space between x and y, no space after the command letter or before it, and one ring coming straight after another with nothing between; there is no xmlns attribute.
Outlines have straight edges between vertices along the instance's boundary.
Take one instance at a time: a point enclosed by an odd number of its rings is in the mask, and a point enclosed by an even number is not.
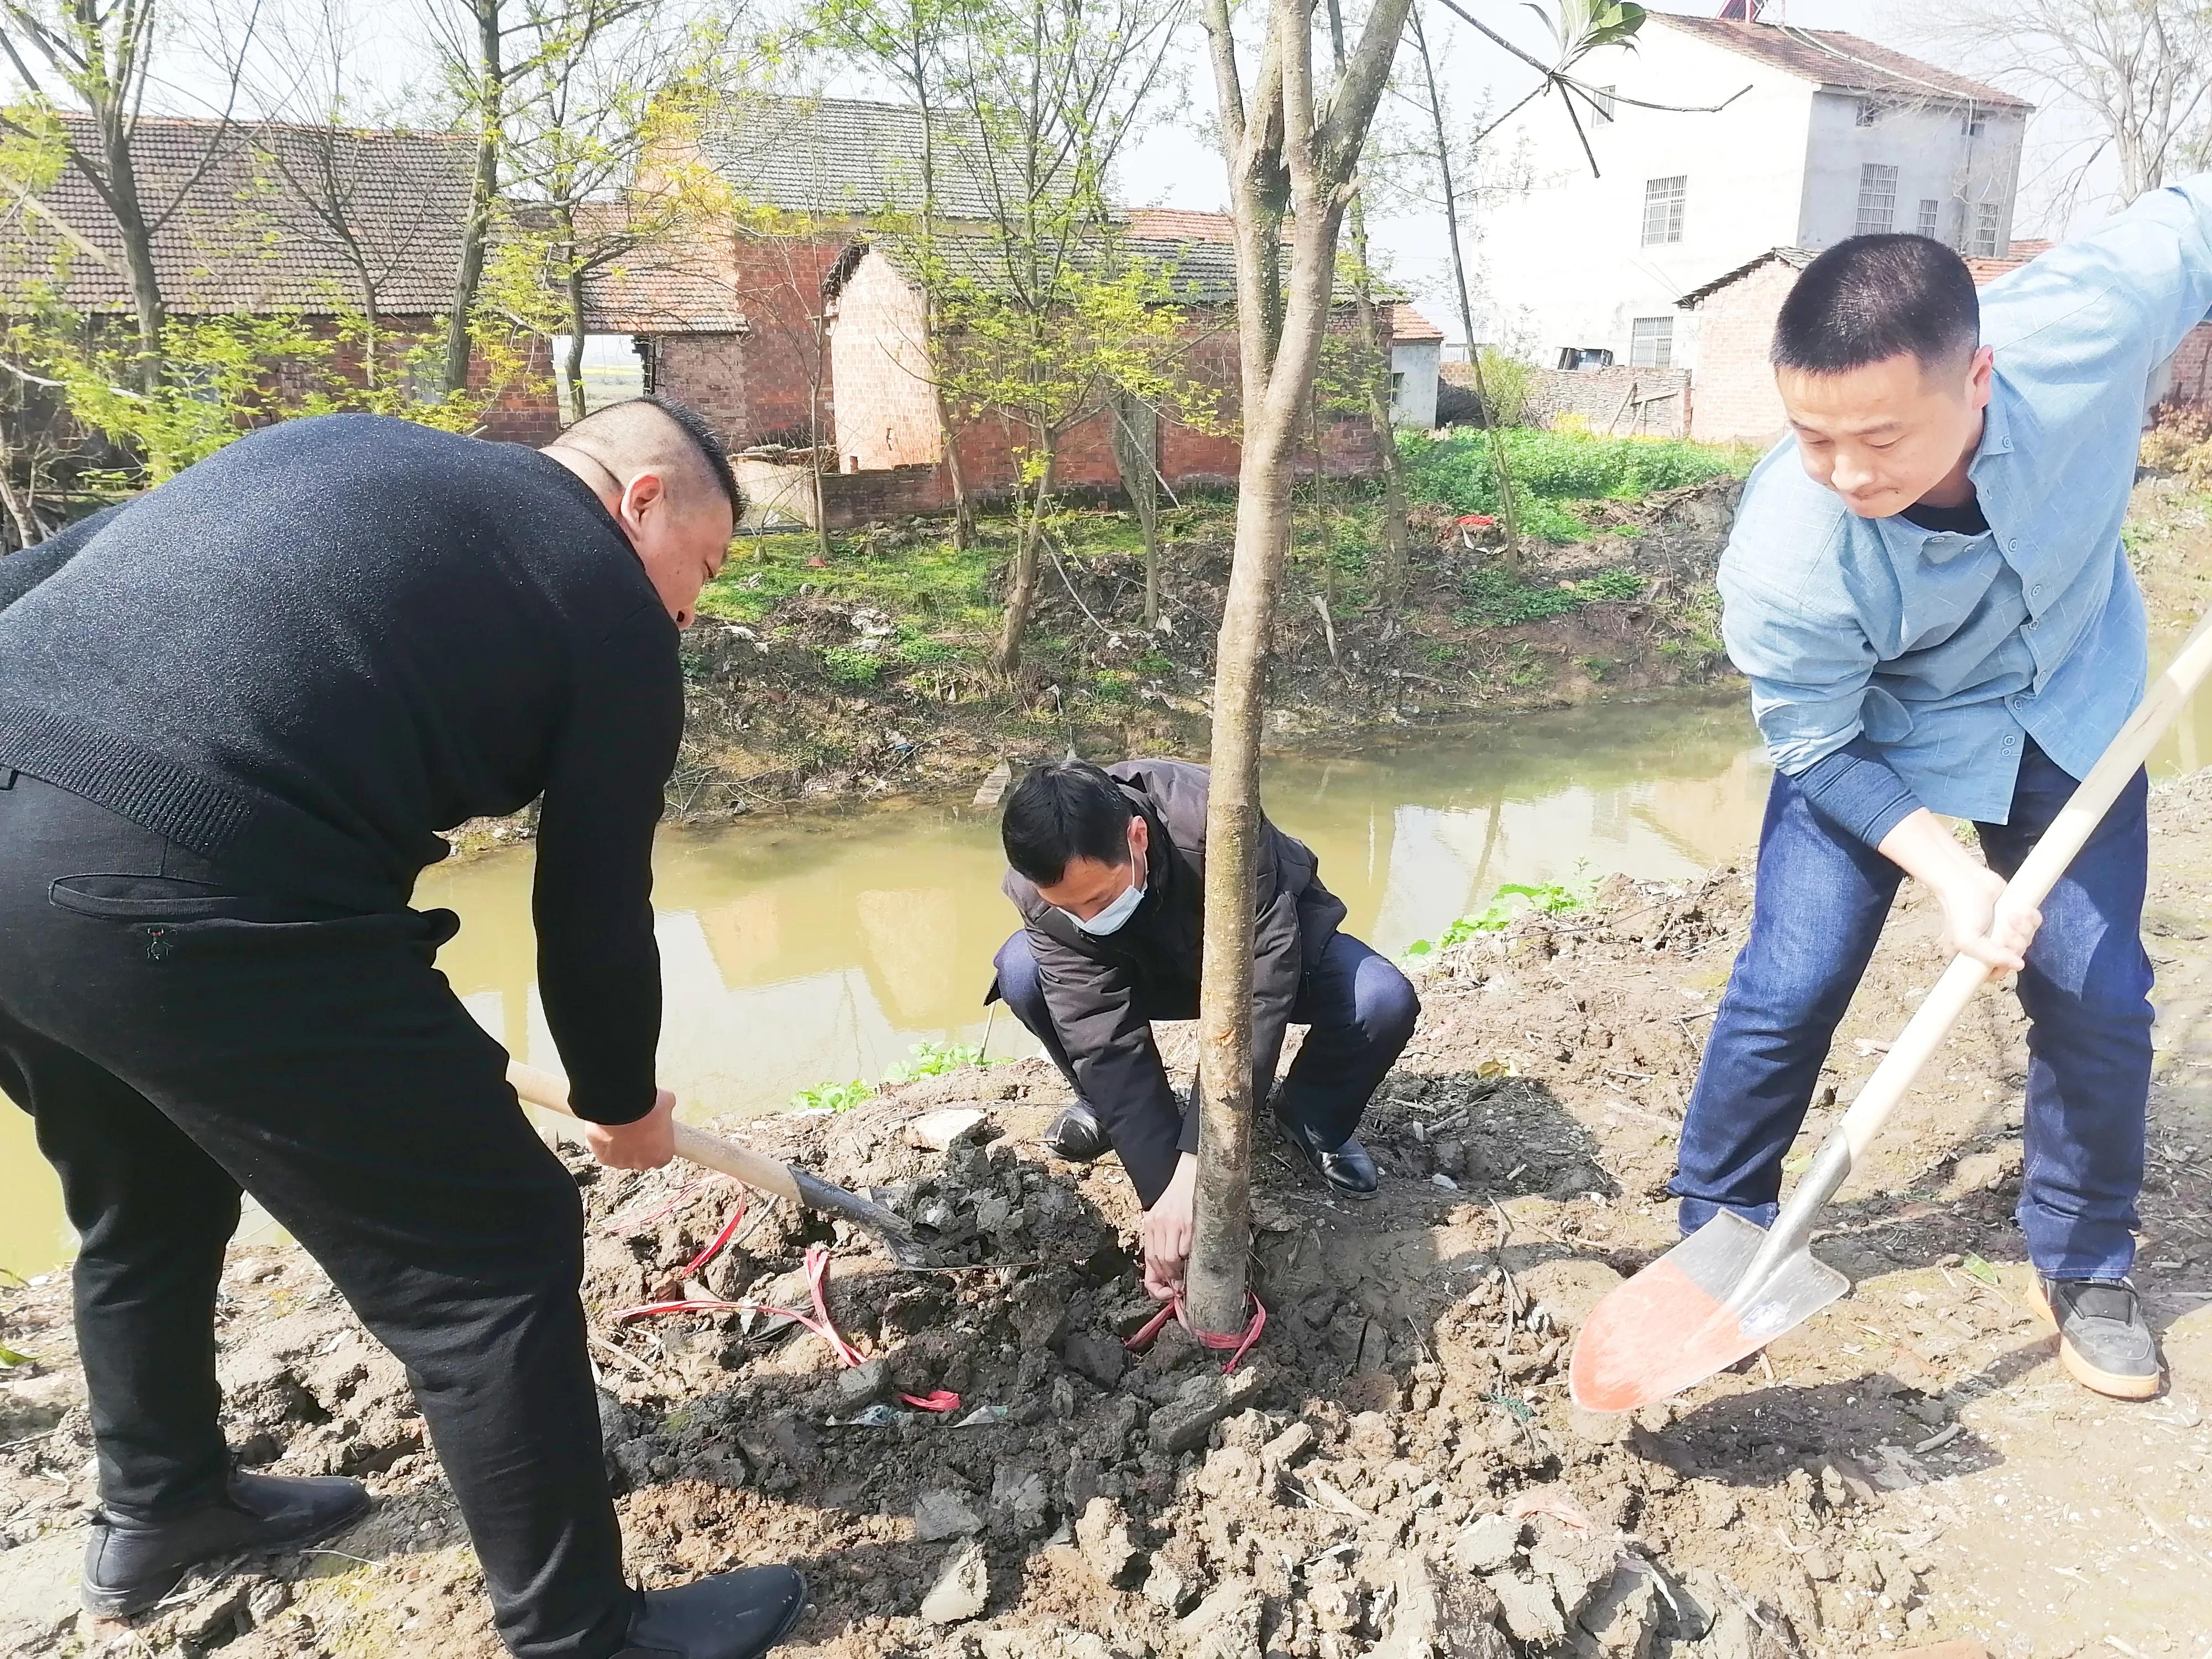
<svg viewBox="0 0 2212 1659"><path fill-rule="evenodd" d="M1179 1332L1144 1358L1133 1197L1033 1135L1042 1062L743 1126L869 1186L936 1272L774 1208L692 1287L732 1210L679 1170L599 1175L584 1287L635 1575L805 1566L818 1659L1429 1659L1887 1652L2197 1655L2212 1644L2212 774L2154 801L2157 1084L2139 1281L2172 1383L2097 1400L2028 1314L2011 1206L2024 1042L1989 993L1834 1210L1856 1290L1741 1374L1632 1420L1579 1418L1575 1323L1670 1237L1663 1181L1747 883L1613 878L1582 916L1436 958L1369 1146L1383 1199L1332 1203L1261 1137L1270 1321L1223 1378ZM1836 1102L1936 978L1900 911L1836 1053ZM945 1119L958 1110L969 1117ZM971 1121L969 1121L971 1119ZM953 1130L958 1130L953 1135ZM951 1139L947 1139L951 1135ZM869 1356L743 1314L619 1323L655 1296L830 1310ZM263 1469L363 1475L327 1548L188 1582L137 1626L80 1619L93 1502L66 1294L0 1294L0 1652L495 1652L473 1557L396 1367L310 1261L237 1256L232 1440ZM949 1389L942 1418L900 1394Z"/></svg>

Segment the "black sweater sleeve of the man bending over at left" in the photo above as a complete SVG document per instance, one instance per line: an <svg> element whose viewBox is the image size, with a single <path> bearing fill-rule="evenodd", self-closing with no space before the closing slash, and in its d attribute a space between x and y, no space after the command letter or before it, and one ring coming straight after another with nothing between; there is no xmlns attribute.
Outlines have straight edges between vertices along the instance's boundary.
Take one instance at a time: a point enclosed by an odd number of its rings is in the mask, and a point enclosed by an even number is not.
<svg viewBox="0 0 2212 1659"><path fill-rule="evenodd" d="M538 993L595 1124L653 1110L661 951L653 938L653 827L684 737L675 624L641 606L580 666L538 814Z"/></svg>

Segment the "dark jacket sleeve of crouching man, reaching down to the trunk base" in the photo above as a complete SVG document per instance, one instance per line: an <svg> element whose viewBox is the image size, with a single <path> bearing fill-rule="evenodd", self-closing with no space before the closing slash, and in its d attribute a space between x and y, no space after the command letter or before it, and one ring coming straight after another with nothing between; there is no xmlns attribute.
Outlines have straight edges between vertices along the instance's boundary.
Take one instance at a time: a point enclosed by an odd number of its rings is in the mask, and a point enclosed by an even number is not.
<svg viewBox="0 0 2212 1659"><path fill-rule="evenodd" d="M1029 929L1044 1006L1060 1029L1075 1091L1106 1126L1137 1201L1150 1210L1175 1179L1181 1102L1152 1042L1152 1022L1137 1011L1126 969L1097 962L1042 927Z"/></svg>

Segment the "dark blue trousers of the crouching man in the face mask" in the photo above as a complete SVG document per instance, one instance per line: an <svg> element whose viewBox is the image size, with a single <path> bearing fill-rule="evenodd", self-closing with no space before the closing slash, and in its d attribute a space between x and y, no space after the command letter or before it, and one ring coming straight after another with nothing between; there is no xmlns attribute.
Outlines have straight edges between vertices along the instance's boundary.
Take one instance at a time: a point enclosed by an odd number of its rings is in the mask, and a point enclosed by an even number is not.
<svg viewBox="0 0 2212 1659"><path fill-rule="evenodd" d="M1060 1040L1051 1009L1044 1006L1044 984L1037 960L1029 953L1029 933L1020 931L998 951L998 991L1013 1018L1044 1044L1060 1073L1075 1088L1075 1066ZM1148 998L1137 989L1146 1020L1197 1020L1192 987L1181 998ZM1343 1146L1360 1128L1360 1113L1398 1055L1413 1037L1420 998L1387 956L1380 956L1349 933L1336 933L1321 949L1321 960L1298 982L1290 1004L1290 1024L1307 1026L1298 1057L1276 1095L1274 1110L1294 1124L1314 1128L1329 1146Z"/></svg>

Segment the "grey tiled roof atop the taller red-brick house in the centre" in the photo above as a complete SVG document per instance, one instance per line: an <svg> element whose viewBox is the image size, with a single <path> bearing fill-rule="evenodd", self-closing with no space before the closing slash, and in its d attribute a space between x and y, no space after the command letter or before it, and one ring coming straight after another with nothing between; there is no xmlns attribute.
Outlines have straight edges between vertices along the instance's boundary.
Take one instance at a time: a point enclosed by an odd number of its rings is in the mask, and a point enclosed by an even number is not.
<svg viewBox="0 0 2212 1659"><path fill-rule="evenodd" d="M936 210L995 219L991 157L962 115L852 97L739 93L699 124L699 155L748 204L867 219L922 210L922 133L933 133Z"/></svg>

